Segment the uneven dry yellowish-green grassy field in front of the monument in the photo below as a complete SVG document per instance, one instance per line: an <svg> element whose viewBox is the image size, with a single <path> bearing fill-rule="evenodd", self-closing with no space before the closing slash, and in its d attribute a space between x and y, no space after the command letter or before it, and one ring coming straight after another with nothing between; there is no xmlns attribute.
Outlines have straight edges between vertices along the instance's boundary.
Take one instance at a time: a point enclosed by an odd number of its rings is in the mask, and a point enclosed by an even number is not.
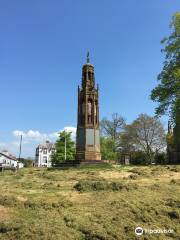
<svg viewBox="0 0 180 240"><path fill-rule="evenodd" d="M180 166L30 168L0 186L2 240L180 239Z"/></svg>

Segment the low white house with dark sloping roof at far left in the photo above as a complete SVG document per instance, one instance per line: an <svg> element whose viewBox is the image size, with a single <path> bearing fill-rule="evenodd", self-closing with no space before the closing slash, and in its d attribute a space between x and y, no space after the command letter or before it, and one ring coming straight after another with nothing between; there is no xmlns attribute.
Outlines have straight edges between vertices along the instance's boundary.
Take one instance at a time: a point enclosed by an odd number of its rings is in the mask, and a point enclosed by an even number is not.
<svg viewBox="0 0 180 240"><path fill-rule="evenodd" d="M0 152L0 167L4 169L17 169L24 167L24 164L18 162L17 158L7 150Z"/></svg>

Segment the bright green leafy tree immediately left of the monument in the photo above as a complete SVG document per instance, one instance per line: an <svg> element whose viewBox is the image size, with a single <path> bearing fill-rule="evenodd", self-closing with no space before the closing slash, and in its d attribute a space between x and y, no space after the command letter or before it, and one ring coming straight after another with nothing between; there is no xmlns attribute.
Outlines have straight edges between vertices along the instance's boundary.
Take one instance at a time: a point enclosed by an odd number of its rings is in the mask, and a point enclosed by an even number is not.
<svg viewBox="0 0 180 240"><path fill-rule="evenodd" d="M65 147L66 146L66 147ZM66 156L66 157L65 157ZM65 159L66 158L66 159ZM55 153L52 155L52 164L75 159L75 143L71 139L71 132L60 132L55 143Z"/></svg>

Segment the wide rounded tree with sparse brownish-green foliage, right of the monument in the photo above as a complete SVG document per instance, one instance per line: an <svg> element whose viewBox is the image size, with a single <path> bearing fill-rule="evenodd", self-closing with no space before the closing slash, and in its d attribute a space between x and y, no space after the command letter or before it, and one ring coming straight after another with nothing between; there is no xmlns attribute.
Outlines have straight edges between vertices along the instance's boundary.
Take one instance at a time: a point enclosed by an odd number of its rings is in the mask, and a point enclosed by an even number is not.
<svg viewBox="0 0 180 240"><path fill-rule="evenodd" d="M141 158L145 158L146 163L152 163L155 152L163 151L165 146L166 136L161 122L147 114L140 114L132 124L126 125L119 145L122 152L143 153Z"/></svg>

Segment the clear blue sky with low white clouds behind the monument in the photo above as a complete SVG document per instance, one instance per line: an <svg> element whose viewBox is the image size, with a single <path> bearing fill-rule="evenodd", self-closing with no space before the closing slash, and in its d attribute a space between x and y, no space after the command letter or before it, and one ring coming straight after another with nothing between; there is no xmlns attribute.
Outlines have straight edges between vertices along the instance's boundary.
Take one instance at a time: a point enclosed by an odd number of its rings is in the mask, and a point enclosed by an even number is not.
<svg viewBox="0 0 180 240"><path fill-rule="evenodd" d="M149 94L164 60L160 40L179 10L179 0L1 0L0 149L17 154L19 130L26 133L23 156L33 156L39 133L76 127L87 50L101 118L153 115Z"/></svg>

